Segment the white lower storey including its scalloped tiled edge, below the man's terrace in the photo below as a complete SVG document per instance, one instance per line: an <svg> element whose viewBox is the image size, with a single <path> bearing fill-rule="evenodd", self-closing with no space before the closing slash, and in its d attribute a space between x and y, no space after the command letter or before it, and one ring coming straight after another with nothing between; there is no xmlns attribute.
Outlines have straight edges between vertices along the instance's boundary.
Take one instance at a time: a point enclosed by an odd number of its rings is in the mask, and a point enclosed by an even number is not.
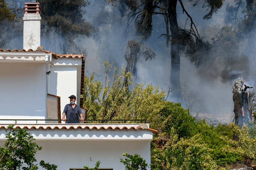
<svg viewBox="0 0 256 170"><path fill-rule="evenodd" d="M0 146L6 140L7 126L0 124ZM137 153L148 164L151 162L153 131L148 129L149 124L27 124L16 127L25 128L43 147L36 155L38 162L56 164L58 170L83 168L84 165L93 167L96 161L101 161L100 168L124 170L119 162L122 153Z"/></svg>

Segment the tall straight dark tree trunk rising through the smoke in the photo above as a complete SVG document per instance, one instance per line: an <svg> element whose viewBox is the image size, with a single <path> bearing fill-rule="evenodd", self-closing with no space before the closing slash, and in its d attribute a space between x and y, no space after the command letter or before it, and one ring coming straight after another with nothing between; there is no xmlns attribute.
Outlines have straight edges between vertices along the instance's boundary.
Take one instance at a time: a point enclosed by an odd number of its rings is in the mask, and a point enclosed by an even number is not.
<svg viewBox="0 0 256 170"><path fill-rule="evenodd" d="M177 23L177 0L169 0L168 19L170 31L172 33L171 40L171 76L170 82L172 88L177 90L172 92L172 96L182 99L180 91L180 44L179 44L179 27ZM177 101L177 102L178 102Z"/></svg>

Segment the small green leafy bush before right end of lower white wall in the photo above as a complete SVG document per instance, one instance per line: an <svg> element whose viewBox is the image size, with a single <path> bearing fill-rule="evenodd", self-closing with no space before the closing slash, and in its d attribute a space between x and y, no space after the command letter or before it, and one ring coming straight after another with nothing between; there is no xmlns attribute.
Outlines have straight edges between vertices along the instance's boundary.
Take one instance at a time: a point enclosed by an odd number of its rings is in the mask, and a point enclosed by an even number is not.
<svg viewBox="0 0 256 170"><path fill-rule="evenodd" d="M134 155L130 155L128 153L123 153L125 156L125 160L120 158L120 162L125 165L125 170L146 170L148 164L146 163L145 159L140 157L137 153Z"/></svg>

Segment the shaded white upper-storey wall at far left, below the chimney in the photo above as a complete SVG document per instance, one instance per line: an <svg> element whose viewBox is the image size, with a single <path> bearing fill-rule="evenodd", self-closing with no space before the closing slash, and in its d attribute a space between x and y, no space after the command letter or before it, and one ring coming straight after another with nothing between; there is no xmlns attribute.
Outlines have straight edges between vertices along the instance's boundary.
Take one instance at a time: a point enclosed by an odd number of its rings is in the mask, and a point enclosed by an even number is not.
<svg viewBox="0 0 256 170"><path fill-rule="evenodd" d="M0 63L0 96L0 119L44 119L46 64Z"/></svg>

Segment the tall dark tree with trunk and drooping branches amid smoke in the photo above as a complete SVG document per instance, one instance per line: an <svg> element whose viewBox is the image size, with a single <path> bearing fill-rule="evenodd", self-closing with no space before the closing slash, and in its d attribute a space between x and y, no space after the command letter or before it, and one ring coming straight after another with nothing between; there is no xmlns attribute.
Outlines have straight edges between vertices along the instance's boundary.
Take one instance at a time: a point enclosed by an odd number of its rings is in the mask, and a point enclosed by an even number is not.
<svg viewBox="0 0 256 170"><path fill-rule="evenodd" d="M166 33L161 36L166 37L167 45L171 42L171 86L172 88L180 87L180 51L183 45L193 45L195 49L201 48L202 39L193 22L192 17L186 11L183 0L106 0L108 3L122 3L128 6L131 11L129 15L136 18L137 34L141 39L147 40L152 34L152 17L161 15L166 24ZM180 28L177 23L177 3L183 9L183 12L190 20L189 27ZM194 6L199 3L196 0ZM204 0L204 6L207 7L207 14L204 19L209 19L212 14L218 11L223 4L223 0ZM171 34L170 34L171 33ZM191 48L190 48L191 49ZM180 89L180 88L177 88ZM174 91L174 96L182 98L180 90Z"/></svg>

